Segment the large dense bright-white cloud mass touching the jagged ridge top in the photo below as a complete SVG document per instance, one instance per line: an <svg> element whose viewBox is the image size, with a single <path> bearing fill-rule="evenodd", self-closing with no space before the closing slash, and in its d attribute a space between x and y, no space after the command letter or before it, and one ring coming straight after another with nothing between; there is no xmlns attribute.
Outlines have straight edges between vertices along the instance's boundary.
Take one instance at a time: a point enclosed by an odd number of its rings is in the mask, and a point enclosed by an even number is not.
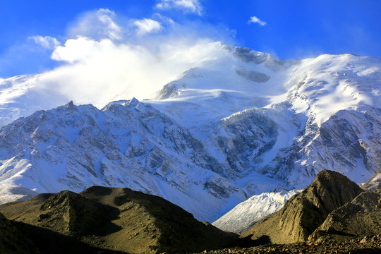
<svg viewBox="0 0 381 254"><path fill-rule="evenodd" d="M64 61L59 68L38 78L42 87L54 87L59 97L76 104L103 107L117 99L145 99L180 73L224 52L209 40L161 44L160 51L109 39L78 37L58 47L53 58Z"/></svg>

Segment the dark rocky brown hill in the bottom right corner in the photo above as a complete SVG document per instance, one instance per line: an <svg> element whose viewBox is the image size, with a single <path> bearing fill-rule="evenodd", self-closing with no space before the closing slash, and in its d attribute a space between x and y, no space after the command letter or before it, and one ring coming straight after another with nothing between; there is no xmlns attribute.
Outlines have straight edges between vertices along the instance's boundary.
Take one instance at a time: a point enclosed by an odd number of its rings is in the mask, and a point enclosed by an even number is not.
<svg viewBox="0 0 381 254"><path fill-rule="evenodd" d="M337 241L381 233L381 190L366 191L329 213L310 236L310 241Z"/></svg>

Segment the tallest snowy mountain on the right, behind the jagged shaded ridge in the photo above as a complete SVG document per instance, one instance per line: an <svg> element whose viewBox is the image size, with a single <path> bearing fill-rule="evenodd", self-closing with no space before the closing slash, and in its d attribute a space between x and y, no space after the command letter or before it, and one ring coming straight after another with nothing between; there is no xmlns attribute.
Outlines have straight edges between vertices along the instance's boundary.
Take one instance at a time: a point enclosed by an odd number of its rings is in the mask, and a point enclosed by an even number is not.
<svg viewBox="0 0 381 254"><path fill-rule="evenodd" d="M279 61L225 49L225 58L184 73L149 103L203 140L251 195L272 190L256 173L304 188L325 168L363 183L381 167L380 59Z"/></svg>

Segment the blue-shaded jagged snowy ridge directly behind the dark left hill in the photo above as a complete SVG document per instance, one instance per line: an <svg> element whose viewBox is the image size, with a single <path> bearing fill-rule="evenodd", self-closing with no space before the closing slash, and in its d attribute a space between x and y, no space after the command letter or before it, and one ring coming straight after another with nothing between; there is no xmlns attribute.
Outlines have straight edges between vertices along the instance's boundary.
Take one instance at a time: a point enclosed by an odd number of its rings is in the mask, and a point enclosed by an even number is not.
<svg viewBox="0 0 381 254"><path fill-rule="evenodd" d="M246 199L186 128L136 99L103 110L71 102L18 119L1 129L0 158L1 184L26 195L128 186L208 220Z"/></svg>

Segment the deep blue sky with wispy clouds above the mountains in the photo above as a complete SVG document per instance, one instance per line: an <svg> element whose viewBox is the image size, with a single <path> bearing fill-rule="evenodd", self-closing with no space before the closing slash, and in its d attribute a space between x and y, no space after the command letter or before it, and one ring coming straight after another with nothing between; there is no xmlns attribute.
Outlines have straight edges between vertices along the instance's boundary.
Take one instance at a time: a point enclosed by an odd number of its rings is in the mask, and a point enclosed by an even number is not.
<svg viewBox="0 0 381 254"><path fill-rule="evenodd" d="M185 44L222 41L281 59L381 58L378 0L1 0L0 24L0 78L70 62L54 52L78 37L150 44L152 51L181 37Z"/></svg>

